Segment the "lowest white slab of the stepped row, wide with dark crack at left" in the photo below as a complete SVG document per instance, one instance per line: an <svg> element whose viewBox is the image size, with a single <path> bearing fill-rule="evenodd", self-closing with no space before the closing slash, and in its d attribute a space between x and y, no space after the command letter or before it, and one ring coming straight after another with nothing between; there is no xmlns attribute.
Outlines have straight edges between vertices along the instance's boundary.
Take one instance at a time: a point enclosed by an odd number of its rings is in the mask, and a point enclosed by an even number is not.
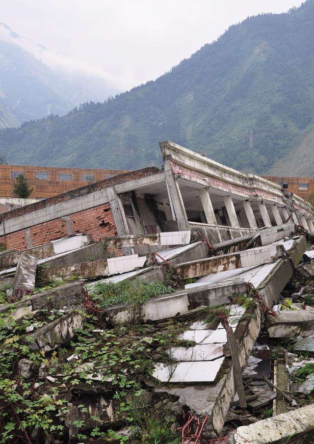
<svg viewBox="0 0 314 444"><path fill-rule="evenodd" d="M155 366L153 376L161 382L213 382L223 360L181 362L175 367L160 363Z"/></svg>

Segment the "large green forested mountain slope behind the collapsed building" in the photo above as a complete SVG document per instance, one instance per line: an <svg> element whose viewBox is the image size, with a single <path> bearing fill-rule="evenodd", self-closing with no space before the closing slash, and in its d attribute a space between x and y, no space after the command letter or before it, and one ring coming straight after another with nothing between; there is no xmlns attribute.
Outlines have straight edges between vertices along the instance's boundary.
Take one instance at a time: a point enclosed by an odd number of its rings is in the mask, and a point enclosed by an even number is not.
<svg viewBox="0 0 314 444"><path fill-rule="evenodd" d="M113 100L1 131L0 152L10 163L135 169L158 164L158 141L170 139L262 174L307 146L311 128L314 0L247 18Z"/></svg>

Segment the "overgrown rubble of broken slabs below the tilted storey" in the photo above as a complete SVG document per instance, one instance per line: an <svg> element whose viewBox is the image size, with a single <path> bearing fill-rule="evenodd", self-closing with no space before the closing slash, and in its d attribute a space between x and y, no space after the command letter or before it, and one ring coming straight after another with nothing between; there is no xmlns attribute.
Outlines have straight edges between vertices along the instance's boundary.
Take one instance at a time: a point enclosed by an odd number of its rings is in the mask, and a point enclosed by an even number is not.
<svg viewBox="0 0 314 444"><path fill-rule="evenodd" d="M311 442L311 237L178 232L109 258L79 236L44 258L0 253L1 442Z"/></svg>

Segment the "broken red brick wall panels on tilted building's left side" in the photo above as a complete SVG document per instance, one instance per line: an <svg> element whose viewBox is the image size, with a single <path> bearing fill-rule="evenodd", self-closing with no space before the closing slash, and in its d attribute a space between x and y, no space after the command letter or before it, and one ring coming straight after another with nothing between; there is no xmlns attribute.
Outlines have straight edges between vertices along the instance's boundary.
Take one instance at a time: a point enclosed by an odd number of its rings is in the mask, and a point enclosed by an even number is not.
<svg viewBox="0 0 314 444"><path fill-rule="evenodd" d="M91 209L85 209L68 216L73 233L82 233L84 230L91 234L95 240L102 237L117 235L113 214L109 204L99 205ZM29 229L29 235L33 247L48 243L52 240L69 235L67 223L63 218L33 225ZM4 242L4 237L0 237ZM20 230L5 236L6 248L23 250L28 248L26 232Z"/></svg>

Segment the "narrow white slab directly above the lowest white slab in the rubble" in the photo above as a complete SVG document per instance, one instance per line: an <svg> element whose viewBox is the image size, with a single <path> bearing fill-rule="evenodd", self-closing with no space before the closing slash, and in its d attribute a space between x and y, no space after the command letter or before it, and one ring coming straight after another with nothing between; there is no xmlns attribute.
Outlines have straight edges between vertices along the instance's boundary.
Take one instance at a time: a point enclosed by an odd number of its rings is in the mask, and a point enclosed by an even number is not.
<svg viewBox="0 0 314 444"><path fill-rule="evenodd" d="M223 344L200 344L195 347L173 347L168 355L176 361L212 361L223 356Z"/></svg>

